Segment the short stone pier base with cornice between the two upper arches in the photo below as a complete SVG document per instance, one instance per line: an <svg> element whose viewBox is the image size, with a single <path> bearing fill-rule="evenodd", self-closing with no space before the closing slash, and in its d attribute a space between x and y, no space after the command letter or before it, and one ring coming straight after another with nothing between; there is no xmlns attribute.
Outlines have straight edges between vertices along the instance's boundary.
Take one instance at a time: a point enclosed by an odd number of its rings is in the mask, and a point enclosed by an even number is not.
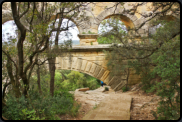
<svg viewBox="0 0 182 122"><path fill-rule="evenodd" d="M98 34L78 34L80 45L98 45Z"/></svg>

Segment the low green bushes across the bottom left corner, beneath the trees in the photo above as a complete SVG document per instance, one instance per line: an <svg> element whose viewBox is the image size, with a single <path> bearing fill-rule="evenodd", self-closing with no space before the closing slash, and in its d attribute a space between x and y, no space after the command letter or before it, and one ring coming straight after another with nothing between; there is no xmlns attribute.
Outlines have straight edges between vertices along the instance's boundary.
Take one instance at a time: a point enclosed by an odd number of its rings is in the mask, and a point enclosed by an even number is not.
<svg viewBox="0 0 182 122"><path fill-rule="evenodd" d="M8 94L6 107L3 108L3 116L9 120L55 120L55 115L70 113L76 115L79 105L74 104L74 96L68 91L41 96L35 90L29 90L29 97L12 97ZM59 109L58 109L59 108Z"/></svg>

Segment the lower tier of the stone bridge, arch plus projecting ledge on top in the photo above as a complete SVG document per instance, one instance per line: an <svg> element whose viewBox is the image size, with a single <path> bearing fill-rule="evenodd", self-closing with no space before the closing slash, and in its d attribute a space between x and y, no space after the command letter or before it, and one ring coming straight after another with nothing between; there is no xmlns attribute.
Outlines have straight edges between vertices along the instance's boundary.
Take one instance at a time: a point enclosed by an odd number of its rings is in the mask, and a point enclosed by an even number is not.
<svg viewBox="0 0 182 122"><path fill-rule="evenodd" d="M73 46L71 52L63 53L56 57L56 69L74 70L86 73L102 80L115 91L120 90L126 84L126 75L113 76L107 69L107 60L103 50L110 50L109 44L95 46ZM131 71L128 84L134 85L140 82L140 77Z"/></svg>

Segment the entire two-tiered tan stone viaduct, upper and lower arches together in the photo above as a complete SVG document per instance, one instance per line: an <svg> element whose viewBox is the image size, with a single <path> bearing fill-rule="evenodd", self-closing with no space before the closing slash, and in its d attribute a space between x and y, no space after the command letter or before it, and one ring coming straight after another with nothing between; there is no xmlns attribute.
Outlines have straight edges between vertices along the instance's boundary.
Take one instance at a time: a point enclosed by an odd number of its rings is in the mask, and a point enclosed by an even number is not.
<svg viewBox="0 0 182 122"><path fill-rule="evenodd" d="M101 45L97 42L98 27L99 24L111 16L119 16L121 21L125 24L126 28L137 28L147 18L142 17L140 14L135 13L129 15L124 12L124 9L130 9L130 4L135 2L128 2L124 4L124 7L118 5L117 8L112 7L115 2L96 2L96 4L90 4L87 6L86 15L89 17L89 21L79 21L74 18L72 21L77 25L79 30L78 37L80 38L80 45L73 46L70 54L71 60L68 55L60 56L56 58L56 68L65 70L76 70L89 74L104 81L107 85L110 85L114 90L121 89L126 84L126 76L110 76L110 71L107 70L107 60L105 60L105 54L103 50L109 50L109 45ZM2 9L2 24L6 21L12 20L11 7L9 3L3 3L6 8ZM53 5L54 3L52 3ZM151 3L148 2L137 9L139 13L150 13ZM9 9L7 9L9 8ZM85 14L83 12L80 13ZM55 16L52 16L54 19ZM168 17L167 19L171 19ZM134 38L139 38L148 35L149 23L146 23L142 28L138 30ZM89 34L88 32L93 34ZM91 44L92 43L92 44ZM124 64L123 64L124 65ZM140 82L140 77L131 72L129 77L129 84L136 84Z"/></svg>

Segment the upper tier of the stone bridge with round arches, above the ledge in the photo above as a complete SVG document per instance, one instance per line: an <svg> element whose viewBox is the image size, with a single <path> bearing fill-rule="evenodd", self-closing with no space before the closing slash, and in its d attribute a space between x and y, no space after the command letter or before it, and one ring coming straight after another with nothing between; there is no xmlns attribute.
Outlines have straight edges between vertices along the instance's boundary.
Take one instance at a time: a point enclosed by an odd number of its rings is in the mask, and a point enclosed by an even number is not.
<svg viewBox="0 0 182 122"><path fill-rule="evenodd" d="M50 5L54 5L54 2L49 2ZM79 30L78 37L80 38L81 45L98 45L97 37L98 37L98 27L99 24L104 20L111 16L118 16L120 20L125 24L126 28L136 28L141 25L142 22L146 20L146 18L142 17L140 14L130 15L127 14L124 10L130 9L132 6L130 4L135 4L136 2L125 2L124 6L120 4L117 7L113 7L116 5L116 2L94 2L94 4L89 4L86 6L85 13L79 13L78 17L71 19L77 26ZM138 12L150 12L151 3L147 3L138 8ZM40 4L42 6L42 4ZM38 8L38 11L41 9ZM56 13L55 13L56 14ZM55 14L51 16L51 20L55 19ZM71 14L71 13L70 13ZM87 20L80 20L79 17L81 15L86 16ZM66 17L66 16L65 16ZM13 20L11 5L10 2L4 2L2 5L2 24ZM22 21L25 26L28 26L26 22ZM145 24L142 28L138 30L138 33L135 36L140 37L146 35L148 25ZM89 34L91 32L92 34Z"/></svg>

